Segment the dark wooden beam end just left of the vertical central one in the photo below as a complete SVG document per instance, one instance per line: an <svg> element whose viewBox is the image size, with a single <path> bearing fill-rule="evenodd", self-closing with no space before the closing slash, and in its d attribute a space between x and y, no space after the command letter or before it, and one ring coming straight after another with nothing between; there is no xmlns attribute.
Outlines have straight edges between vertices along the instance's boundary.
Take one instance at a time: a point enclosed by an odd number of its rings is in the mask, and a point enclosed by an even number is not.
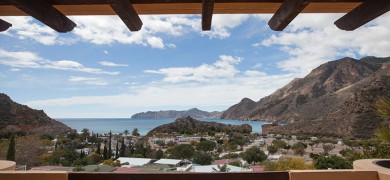
<svg viewBox="0 0 390 180"><path fill-rule="evenodd" d="M141 18L129 0L108 0L108 3L130 31L138 31L142 28Z"/></svg>

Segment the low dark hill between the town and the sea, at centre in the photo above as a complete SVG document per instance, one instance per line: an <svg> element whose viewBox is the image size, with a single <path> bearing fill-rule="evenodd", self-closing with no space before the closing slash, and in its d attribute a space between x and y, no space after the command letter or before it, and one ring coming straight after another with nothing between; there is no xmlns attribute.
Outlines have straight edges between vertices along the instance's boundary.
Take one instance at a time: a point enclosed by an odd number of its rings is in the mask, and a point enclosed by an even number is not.
<svg viewBox="0 0 390 180"><path fill-rule="evenodd" d="M248 124L243 125L230 125L216 122L206 122L193 119L191 117L177 118L174 122L163 124L158 126L147 133L147 136L156 133L207 133L208 131L214 132L239 132L250 133L252 132L252 126Z"/></svg>

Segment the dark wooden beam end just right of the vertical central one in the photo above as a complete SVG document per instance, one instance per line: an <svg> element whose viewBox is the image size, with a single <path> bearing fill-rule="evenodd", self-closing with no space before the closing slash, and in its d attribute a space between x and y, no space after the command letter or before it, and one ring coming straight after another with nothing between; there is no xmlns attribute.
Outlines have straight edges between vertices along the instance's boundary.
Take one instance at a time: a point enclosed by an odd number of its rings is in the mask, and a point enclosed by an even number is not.
<svg viewBox="0 0 390 180"><path fill-rule="evenodd" d="M309 4L310 0L285 0L276 13L268 21L274 31L283 31L288 24Z"/></svg>

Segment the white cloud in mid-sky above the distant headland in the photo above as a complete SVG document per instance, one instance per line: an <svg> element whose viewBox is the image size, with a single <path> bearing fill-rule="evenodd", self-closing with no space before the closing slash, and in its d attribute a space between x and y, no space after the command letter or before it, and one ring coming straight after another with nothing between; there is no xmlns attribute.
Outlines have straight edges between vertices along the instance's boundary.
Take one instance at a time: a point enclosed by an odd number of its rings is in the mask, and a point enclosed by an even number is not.
<svg viewBox="0 0 390 180"><path fill-rule="evenodd" d="M198 67L163 68L145 70L145 73L165 75L163 81L181 83L187 81L208 82L212 79L231 78L239 71L235 65L242 61L240 57L221 55L214 64L203 64Z"/></svg>

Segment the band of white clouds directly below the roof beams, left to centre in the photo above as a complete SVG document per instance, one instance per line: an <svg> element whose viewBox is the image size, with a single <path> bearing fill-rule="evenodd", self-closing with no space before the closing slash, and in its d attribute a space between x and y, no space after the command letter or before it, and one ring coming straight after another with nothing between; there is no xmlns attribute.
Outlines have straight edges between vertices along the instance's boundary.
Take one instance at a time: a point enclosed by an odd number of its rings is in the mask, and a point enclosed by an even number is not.
<svg viewBox="0 0 390 180"><path fill-rule="evenodd" d="M164 49L176 45L165 43L164 38L180 37L187 33L224 39L230 30L239 26L250 15L214 15L211 31L201 31L199 15L144 15L140 31L130 32L118 16L70 16L77 26L67 36L37 23L31 17L1 17L12 23L12 28L0 33L19 39L32 39L44 45L74 44L79 41L98 45L134 44ZM104 51L107 54L107 51Z"/></svg>

